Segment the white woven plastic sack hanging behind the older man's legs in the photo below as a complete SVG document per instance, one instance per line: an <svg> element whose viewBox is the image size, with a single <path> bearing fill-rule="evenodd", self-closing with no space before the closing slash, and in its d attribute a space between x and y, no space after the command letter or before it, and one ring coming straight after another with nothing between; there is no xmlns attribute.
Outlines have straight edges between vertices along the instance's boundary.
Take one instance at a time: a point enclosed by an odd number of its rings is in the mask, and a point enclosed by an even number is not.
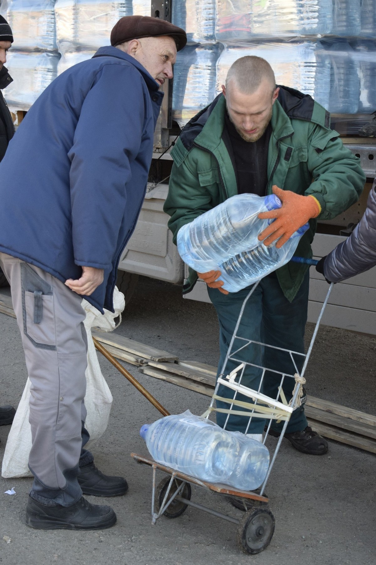
<svg viewBox="0 0 376 565"><path fill-rule="evenodd" d="M111 332L116 328L115 318L121 316L125 307L124 295L115 287L113 294L114 314L108 310L102 315L99 310L82 301L86 311L84 321L87 333L87 369L85 406L87 417L85 427L90 433L87 446L92 445L107 428L112 405L112 394L101 373L98 358L91 337L91 328L98 328L104 332ZM25 389L17 407L11 430L8 435L7 445L2 463L1 474L6 479L10 477L31 477L28 460L32 446L32 432L29 424L29 398L30 379L26 381Z"/></svg>

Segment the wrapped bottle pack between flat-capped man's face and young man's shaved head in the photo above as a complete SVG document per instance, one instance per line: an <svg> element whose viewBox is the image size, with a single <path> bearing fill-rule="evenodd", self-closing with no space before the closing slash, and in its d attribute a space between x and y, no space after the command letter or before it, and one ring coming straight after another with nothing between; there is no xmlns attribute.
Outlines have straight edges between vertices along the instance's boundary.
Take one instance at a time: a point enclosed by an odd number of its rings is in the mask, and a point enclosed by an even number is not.
<svg viewBox="0 0 376 565"><path fill-rule="evenodd" d="M215 98L215 63L218 45L187 45L174 66L172 118L183 127Z"/></svg>

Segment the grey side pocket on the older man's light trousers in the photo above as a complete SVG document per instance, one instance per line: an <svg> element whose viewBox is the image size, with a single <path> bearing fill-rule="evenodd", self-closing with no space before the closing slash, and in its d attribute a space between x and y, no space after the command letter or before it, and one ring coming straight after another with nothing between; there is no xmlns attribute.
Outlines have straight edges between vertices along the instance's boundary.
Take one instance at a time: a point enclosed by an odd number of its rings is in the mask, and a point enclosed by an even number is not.
<svg viewBox="0 0 376 565"><path fill-rule="evenodd" d="M26 263L21 263L24 334L35 347L56 350L54 290Z"/></svg>

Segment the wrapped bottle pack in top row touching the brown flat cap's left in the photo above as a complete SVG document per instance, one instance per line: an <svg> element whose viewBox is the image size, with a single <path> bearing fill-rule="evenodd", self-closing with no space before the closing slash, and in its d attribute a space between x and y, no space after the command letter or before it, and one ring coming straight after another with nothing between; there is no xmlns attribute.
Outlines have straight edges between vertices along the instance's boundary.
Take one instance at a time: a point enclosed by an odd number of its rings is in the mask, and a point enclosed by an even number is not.
<svg viewBox="0 0 376 565"><path fill-rule="evenodd" d="M131 0L57 0L56 40L60 53L91 51L110 45L110 33L123 16L132 15Z"/></svg>

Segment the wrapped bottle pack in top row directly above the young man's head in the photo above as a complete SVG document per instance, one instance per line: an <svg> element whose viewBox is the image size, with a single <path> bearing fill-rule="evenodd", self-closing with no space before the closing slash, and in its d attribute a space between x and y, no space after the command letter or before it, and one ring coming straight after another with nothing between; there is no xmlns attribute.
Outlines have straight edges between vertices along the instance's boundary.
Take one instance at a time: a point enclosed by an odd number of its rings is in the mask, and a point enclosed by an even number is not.
<svg viewBox="0 0 376 565"><path fill-rule="evenodd" d="M331 33L333 0L216 0L217 41Z"/></svg>

